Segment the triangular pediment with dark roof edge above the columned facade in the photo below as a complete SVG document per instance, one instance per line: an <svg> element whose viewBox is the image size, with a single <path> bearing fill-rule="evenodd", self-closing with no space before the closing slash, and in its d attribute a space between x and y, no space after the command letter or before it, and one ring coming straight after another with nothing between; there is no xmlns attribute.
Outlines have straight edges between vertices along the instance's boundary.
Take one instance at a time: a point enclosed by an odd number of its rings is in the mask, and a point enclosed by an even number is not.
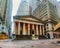
<svg viewBox="0 0 60 48"><path fill-rule="evenodd" d="M18 19L18 20L26 20L26 21L36 21L36 22L41 22L42 21L34 16L15 16L14 19Z"/></svg>

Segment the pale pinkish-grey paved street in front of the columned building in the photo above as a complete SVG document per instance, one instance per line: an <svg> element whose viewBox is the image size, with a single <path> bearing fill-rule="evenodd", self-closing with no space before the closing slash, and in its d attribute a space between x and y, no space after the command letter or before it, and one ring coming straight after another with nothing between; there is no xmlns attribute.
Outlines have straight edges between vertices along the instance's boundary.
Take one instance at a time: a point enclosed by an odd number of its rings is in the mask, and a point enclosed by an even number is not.
<svg viewBox="0 0 60 48"><path fill-rule="evenodd" d="M25 41L0 41L2 48L60 48L60 45L54 44L57 39L50 40L25 40Z"/></svg>

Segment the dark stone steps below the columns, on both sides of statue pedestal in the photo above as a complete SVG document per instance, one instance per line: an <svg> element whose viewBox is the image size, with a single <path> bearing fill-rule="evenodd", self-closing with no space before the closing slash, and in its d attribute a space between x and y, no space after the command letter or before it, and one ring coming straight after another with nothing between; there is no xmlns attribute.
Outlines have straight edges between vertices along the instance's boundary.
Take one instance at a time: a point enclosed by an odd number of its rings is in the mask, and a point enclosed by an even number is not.
<svg viewBox="0 0 60 48"><path fill-rule="evenodd" d="M39 35L38 39L47 39L45 36ZM30 35L16 35L15 40L32 40L32 36Z"/></svg>

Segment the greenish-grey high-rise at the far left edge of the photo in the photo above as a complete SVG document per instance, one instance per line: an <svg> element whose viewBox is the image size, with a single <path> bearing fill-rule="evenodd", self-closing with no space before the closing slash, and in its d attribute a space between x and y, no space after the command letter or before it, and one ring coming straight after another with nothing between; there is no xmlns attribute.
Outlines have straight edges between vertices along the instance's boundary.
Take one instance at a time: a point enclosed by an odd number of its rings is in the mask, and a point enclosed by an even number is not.
<svg viewBox="0 0 60 48"><path fill-rule="evenodd" d="M0 0L0 14L3 19L3 24L5 24L6 19L6 9L7 9L7 0Z"/></svg>

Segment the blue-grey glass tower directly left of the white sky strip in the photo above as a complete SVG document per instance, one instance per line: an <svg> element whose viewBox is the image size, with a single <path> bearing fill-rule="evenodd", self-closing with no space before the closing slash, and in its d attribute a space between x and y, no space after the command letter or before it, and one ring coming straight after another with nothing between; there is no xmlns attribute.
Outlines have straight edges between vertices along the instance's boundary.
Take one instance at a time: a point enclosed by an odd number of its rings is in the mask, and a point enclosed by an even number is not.
<svg viewBox="0 0 60 48"><path fill-rule="evenodd" d="M6 26L8 28L9 35L12 35L12 0L7 1L7 11L6 11Z"/></svg>

